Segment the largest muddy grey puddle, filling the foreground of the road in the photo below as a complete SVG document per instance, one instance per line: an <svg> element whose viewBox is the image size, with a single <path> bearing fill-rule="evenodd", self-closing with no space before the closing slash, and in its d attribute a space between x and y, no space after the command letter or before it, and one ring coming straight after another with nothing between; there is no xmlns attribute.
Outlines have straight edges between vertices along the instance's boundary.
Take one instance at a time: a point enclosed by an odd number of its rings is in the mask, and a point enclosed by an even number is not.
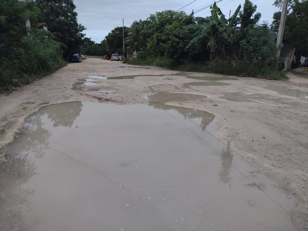
<svg viewBox="0 0 308 231"><path fill-rule="evenodd" d="M157 103L43 107L0 150L0 230L297 230L294 199L215 122Z"/></svg>

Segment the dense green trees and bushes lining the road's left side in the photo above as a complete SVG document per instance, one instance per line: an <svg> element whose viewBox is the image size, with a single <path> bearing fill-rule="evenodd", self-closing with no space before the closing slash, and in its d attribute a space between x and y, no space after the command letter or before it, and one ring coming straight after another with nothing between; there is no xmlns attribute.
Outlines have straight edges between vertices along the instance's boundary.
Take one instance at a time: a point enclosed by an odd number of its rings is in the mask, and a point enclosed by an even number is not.
<svg viewBox="0 0 308 231"><path fill-rule="evenodd" d="M0 93L56 71L80 51L85 28L75 8L72 0L0 2Z"/></svg>

